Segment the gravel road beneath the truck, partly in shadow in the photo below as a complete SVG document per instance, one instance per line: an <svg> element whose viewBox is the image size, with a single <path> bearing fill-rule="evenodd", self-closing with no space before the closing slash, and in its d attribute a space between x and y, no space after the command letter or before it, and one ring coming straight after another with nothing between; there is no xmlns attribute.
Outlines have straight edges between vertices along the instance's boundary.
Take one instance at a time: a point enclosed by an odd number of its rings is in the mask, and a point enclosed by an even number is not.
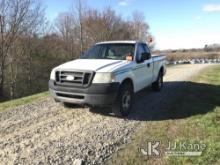
<svg viewBox="0 0 220 165"><path fill-rule="evenodd" d="M102 164L141 122L155 119L161 105L175 97L183 81L206 64L167 69L164 90L145 89L136 95L126 119L108 110L64 108L51 98L0 113L0 164Z"/></svg>

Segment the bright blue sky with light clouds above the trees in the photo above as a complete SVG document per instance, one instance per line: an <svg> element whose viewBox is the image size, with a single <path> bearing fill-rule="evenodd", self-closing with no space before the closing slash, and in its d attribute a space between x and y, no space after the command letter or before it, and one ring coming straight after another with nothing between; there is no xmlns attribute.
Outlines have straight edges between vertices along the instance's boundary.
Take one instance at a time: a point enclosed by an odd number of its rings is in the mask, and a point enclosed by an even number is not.
<svg viewBox="0 0 220 165"><path fill-rule="evenodd" d="M50 21L71 9L74 0L42 0ZM111 6L124 18L143 12L156 48L202 48L220 43L220 0L86 0L103 10Z"/></svg>

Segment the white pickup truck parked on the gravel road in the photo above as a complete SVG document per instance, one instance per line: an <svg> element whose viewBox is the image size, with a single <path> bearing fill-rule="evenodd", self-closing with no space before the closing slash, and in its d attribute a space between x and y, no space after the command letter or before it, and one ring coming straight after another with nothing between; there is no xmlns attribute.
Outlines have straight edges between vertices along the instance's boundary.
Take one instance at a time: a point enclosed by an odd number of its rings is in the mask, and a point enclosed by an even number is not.
<svg viewBox="0 0 220 165"><path fill-rule="evenodd" d="M134 94L149 85L160 91L165 73L165 56L151 56L144 42L101 42L54 68L49 90L64 105L109 106L115 115L127 116Z"/></svg>

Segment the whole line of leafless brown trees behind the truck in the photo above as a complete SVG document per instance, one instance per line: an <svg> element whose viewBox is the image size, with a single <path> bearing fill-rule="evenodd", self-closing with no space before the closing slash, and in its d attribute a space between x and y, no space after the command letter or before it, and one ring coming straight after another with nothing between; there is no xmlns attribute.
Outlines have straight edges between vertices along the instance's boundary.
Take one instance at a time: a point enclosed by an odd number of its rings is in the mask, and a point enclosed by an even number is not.
<svg viewBox="0 0 220 165"><path fill-rule="evenodd" d="M53 67L79 57L99 41L144 40L142 13L125 19L112 8L85 7L81 0L50 23L36 0L0 0L0 101L46 91Z"/></svg>

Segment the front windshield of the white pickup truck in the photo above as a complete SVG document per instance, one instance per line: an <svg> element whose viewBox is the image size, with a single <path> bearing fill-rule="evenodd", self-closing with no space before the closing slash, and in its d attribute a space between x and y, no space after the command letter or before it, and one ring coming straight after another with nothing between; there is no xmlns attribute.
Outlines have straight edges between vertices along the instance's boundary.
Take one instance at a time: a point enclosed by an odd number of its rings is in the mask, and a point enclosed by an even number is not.
<svg viewBox="0 0 220 165"><path fill-rule="evenodd" d="M127 55L134 56L135 44L99 44L91 47L80 58L125 60Z"/></svg>

